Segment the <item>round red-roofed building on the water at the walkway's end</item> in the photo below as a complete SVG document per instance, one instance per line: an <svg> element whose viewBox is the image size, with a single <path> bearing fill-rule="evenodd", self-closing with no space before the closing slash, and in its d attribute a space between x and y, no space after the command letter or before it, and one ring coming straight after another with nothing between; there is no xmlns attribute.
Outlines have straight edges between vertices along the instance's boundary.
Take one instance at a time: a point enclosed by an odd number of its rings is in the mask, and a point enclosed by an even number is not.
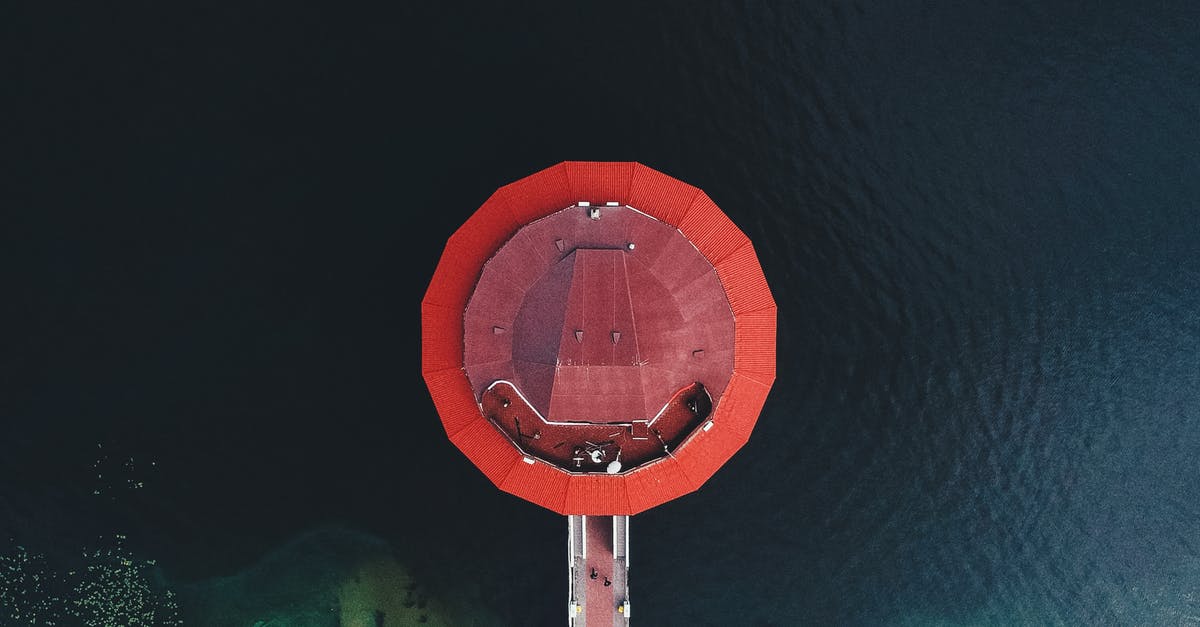
<svg viewBox="0 0 1200 627"><path fill-rule="evenodd" d="M566 161L500 187L450 237L421 345L446 435L497 486L629 515L700 488L746 442L775 378L775 301L701 190Z"/></svg>

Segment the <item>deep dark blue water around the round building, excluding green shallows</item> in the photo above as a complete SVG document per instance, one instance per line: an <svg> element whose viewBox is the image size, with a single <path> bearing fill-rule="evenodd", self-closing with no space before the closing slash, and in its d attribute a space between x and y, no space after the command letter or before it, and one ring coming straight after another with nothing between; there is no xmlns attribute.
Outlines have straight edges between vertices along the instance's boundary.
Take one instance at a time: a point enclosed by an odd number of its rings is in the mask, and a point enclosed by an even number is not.
<svg viewBox="0 0 1200 627"><path fill-rule="evenodd" d="M40 5L0 42L0 553L124 535L203 623L391 551L560 625L564 521L445 441L419 300L497 186L632 160L750 235L780 356L750 443L634 519L638 625L1200 625L1193 2Z"/></svg>

